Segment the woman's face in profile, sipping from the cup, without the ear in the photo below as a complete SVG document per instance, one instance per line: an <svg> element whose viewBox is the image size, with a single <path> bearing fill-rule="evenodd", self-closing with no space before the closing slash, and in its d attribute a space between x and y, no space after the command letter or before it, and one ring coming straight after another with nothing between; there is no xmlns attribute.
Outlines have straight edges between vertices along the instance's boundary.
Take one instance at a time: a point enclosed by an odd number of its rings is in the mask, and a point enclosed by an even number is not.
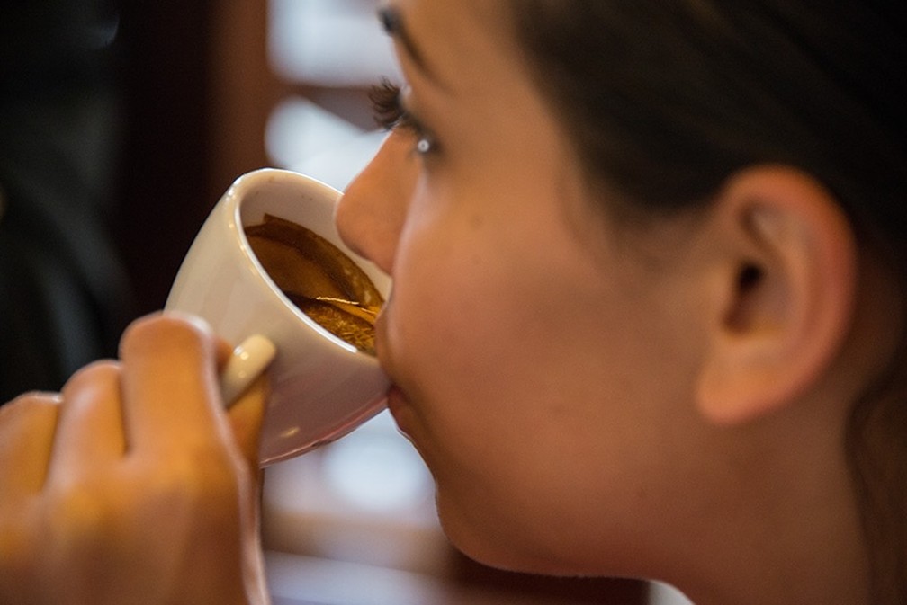
<svg viewBox="0 0 907 605"><path fill-rule="evenodd" d="M392 132L337 225L394 278L377 324L389 407L453 542L505 567L601 571L603 550L646 548L688 488L665 476L682 474L696 327L676 321L681 263L615 234L502 8L480 4L390 4L403 104L430 140Z"/></svg>

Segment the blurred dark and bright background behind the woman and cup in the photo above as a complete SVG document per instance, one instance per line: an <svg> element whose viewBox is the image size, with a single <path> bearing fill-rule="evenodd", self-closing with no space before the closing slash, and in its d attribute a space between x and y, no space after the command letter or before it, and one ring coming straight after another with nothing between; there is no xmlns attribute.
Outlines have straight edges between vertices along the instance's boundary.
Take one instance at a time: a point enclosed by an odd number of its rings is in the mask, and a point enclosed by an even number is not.
<svg viewBox="0 0 907 605"><path fill-rule="evenodd" d="M0 396L59 389L161 309L244 172L344 188L375 152L367 100L398 80L377 0L29 0L0 9ZM276 605L685 602L638 581L493 571L455 552L386 414L271 466Z"/></svg>

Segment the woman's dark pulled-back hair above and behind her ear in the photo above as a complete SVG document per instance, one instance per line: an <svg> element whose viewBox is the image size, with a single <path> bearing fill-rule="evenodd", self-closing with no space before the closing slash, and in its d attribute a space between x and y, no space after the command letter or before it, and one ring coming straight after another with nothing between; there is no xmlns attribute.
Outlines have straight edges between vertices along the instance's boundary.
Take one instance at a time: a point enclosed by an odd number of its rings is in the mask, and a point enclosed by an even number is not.
<svg viewBox="0 0 907 605"><path fill-rule="evenodd" d="M513 0L511 10L587 175L616 188L633 216L706 205L740 168L793 166L828 187L907 292L901 3ZM873 603L907 603L904 341L854 402L844 444Z"/></svg>

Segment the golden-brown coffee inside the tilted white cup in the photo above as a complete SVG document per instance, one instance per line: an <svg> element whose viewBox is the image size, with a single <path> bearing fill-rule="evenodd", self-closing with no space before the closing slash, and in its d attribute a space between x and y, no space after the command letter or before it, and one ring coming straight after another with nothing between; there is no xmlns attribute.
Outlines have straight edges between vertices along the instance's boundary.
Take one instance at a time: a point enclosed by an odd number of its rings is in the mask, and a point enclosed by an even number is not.
<svg viewBox="0 0 907 605"><path fill-rule="evenodd" d="M375 354L375 315L384 299L352 259L324 237L277 216L265 215L245 232L289 300L338 338Z"/></svg>

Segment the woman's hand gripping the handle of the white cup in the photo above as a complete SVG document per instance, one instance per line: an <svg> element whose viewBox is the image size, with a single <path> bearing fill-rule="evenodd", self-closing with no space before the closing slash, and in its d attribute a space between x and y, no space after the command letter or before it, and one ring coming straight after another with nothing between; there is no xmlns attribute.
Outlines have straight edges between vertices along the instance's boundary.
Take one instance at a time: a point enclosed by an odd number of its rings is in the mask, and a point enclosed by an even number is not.
<svg viewBox="0 0 907 605"><path fill-rule="evenodd" d="M229 351L170 315L120 355L0 408L0 602L267 602L264 381L224 412Z"/></svg>

